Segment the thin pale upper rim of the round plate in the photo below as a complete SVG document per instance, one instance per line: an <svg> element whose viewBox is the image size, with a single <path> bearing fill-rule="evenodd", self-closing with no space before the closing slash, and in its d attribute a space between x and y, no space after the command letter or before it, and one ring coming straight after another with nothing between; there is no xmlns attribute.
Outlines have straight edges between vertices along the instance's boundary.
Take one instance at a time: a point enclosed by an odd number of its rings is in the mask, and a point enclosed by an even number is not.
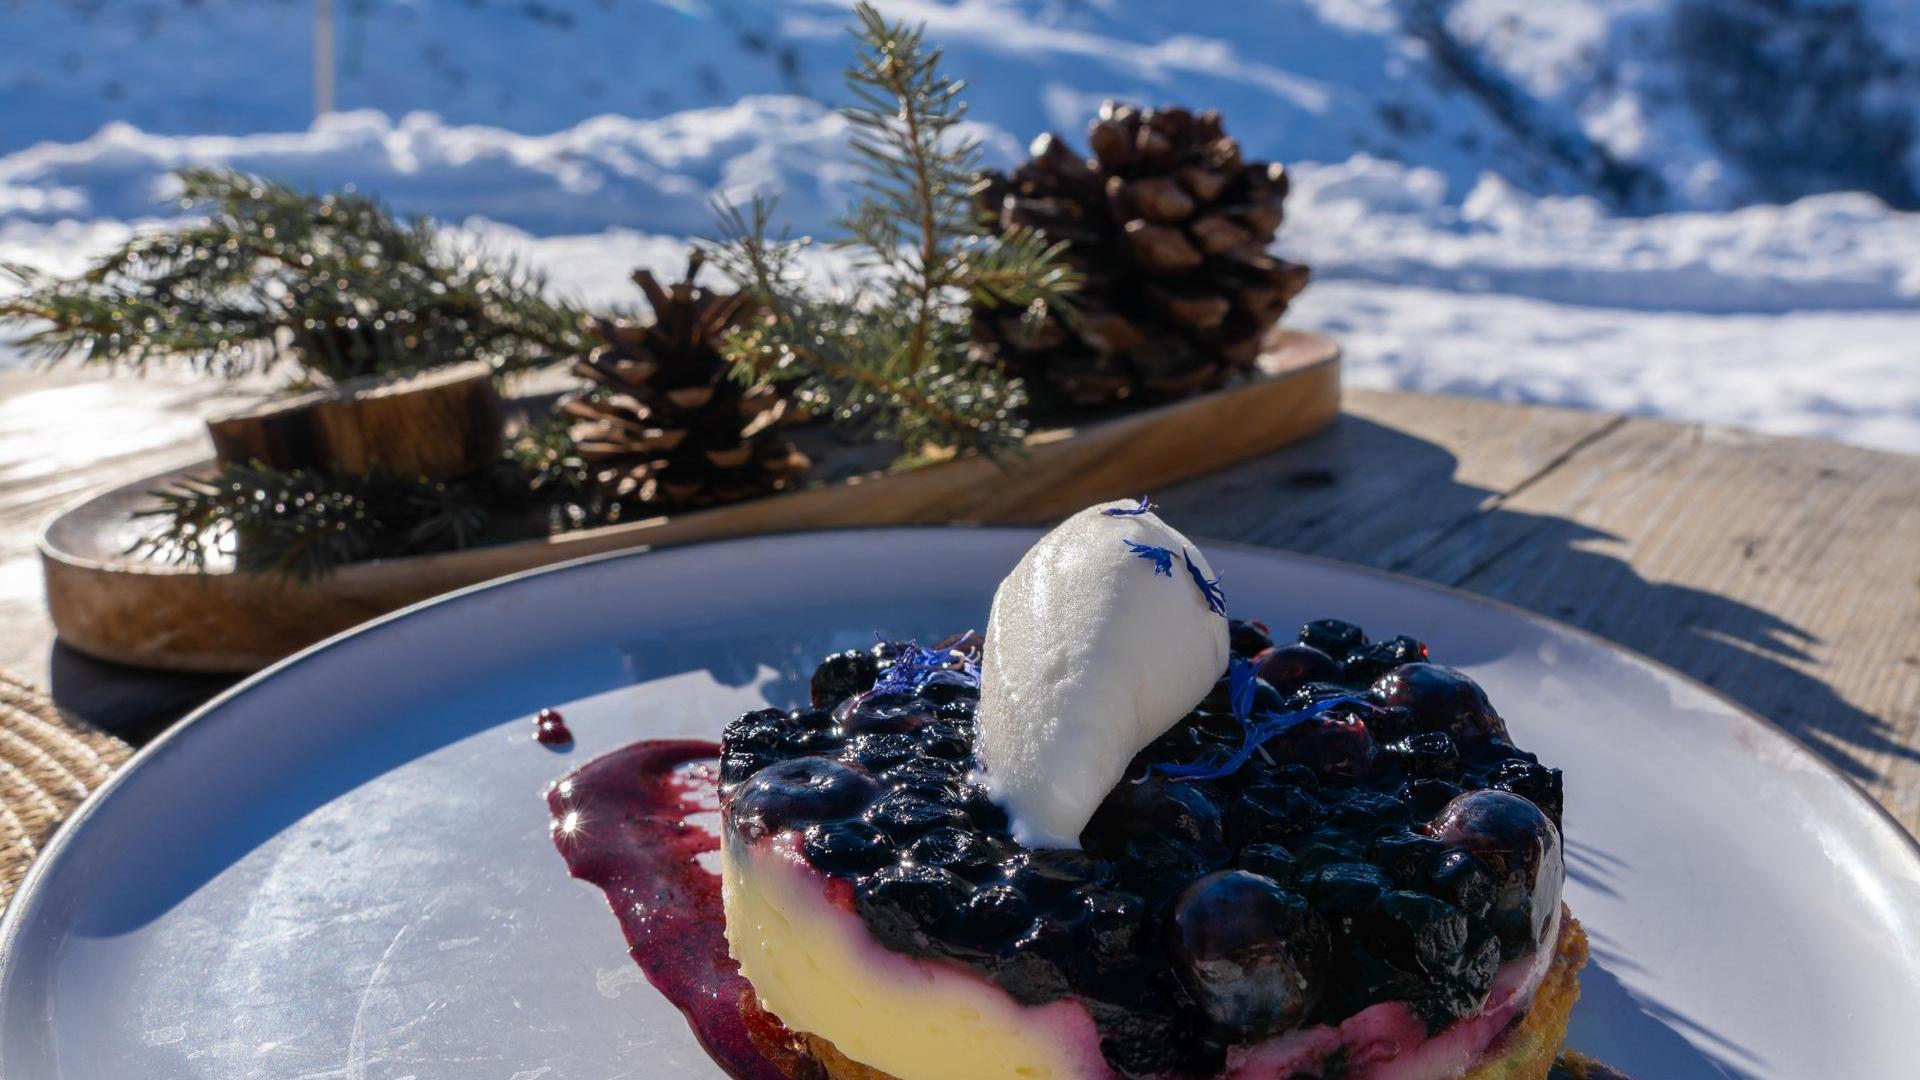
<svg viewBox="0 0 1920 1080"><path fill-rule="evenodd" d="M117 771L113 771L113 774L108 776L108 780L104 784L100 784L98 788L94 788L81 801L81 805L77 805L73 809L73 813L69 813L67 819L63 822L60 822L60 828L46 840L46 844L40 847L40 855L33 861L33 865L27 869L27 874L19 880L19 886L13 890L13 897L8 903L6 913L0 915L0 986L6 986L8 976L13 974L12 965L13 965L13 955L15 955L15 942L19 940L19 934L21 934L23 922L25 922L25 915L23 913L31 907L31 899L42 888L42 880L48 874L48 867L52 867L56 859L63 857L65 849L73 846L73 836L84 826L86 819L90 819L98 811L98 807L104 805L106 796L109 792L113 792L123 782L123 778L131 776L134 773L134 769L146 765L165 746L169 746L171 742L182 738L182 732L186 732L194 724L202 723L207 715L211 715L211 713L215 713L219 709L225 709L232 701L244 698L246 694L250 694L255 688L259 688L261 684L265 684L269 678L275 678L280 673L284 673L284 671L288 671L288 669L292 669L296 665L309 663L315 657L319 657L321 653L324 653L328 650L334 650L334 648L342 646L344 642L348 642L351 638L357 638L361 634L369 634L369 632L380 630L380 628L388 626L390 623L401 623L401 621L407 621L407 619L415 619L415 617L426 613L428 609L440 607L444 603L451 603L455 600L463 600L463 598L472 596L472 594L480 594L480 592L493 590L493 588L505 588L505 586L520 584L520 582L524 582L528 578L549 577L549 575L563 575L563 573L574 573L574 571L580 571L584 567L597 565L597 563L609 563L609 561L618 561L618 559L643 559L647 555L655 555L655 553L660 553L660 552L699 552L699 550L707 550L707 548L722 548L722 546L735 546L735 544L755 544L755 542L766 542L766 540L787 540L787 538L797 538L797 536L814 538L814 536L872 536L872 534L918 534L918 532L972 532L972 534L998 532L998 534L1018 534L1018 536L1039 536L1046 528L1048 527L1043 527L1043 525L968 525L968 523L950 523L950 525L874 525L874 527L847 527L847 528L793 528L793 530L778 530L778 532L758 532L758 534L751 534L751 536L720 536L720 538L714 538L714 540L699 540L699 542L693 542L693 544L674 544L674 546L668 546L668 548L628 548L628 550L620 550L620 552L601 552L601 553L593 553L593 555L582 555L578 559L568 559L564 563L553 563L553 565L545 565L545 567L532 567L532 569L526 569L526 571L516 571L516 573L503 575L503 577L497 577L497 578L488 578L484 582L474 582L474 584L451 590L451 592L444 592L440 596L430 596L426 600L420 600L419 603L409 603L407 607L399 607L396 611L388 611L386 615L378 615L374 619L369 619L367 623L361 623L361 625L351 626L348 630L342 630L342 632L338 632L338 634L334 634L330 638L315 642L315 644L300 650L298 653L292 653L292 655L288 655L288 657L284 657L280 661L275 661L273 665L263 667L261 671L257 671L257 673L242 678L240 682L236 682L236 684L228 686L227 690L215 694L213 698L209 698L207 701L204 701L200 707L196 707L194 711L190 711L184 717L180 717L179 721L175 721L171 726L167 726L163 732L159 732L152 742L148 742L146 746L142 746L140 749L136 749L132 753L132 757L129 757ZM1718 703L1722 703L1724 707L1728 707L1734 715L1738 715L1738 717L1741 717L1741 719L1745 719L1749 723L1759 724L1763 730L1768 732L1768 736L1784 742L1788 746L1789 753L1795 755L1797 761L1814 765L1814 769L1824 778L1839 780L1841 786L1843 786L1843 790L1855 801L1862 803L1864 809L1870 811L1866 815L1866 822L1870 822L1870 826L1876 826L1876 828L1882 828L1885 832L1891 832L1893 838L1899 840L1897 847L1907 853L1907 857L1912 863L1912 869L1916 872L1920 872L1920 836L1914 836L1912 832L1908 832L1907 826L1901 824L1901 821L1897 817L1893 817L1893 811L1889 811L1887 807L1884 807L1880 803L1880 799L1876 799L1872 794L1868 794L1866 788L1862 788L1853 776L1847 776L1837 765L1834 765L1826 757L1820 757L1818 753L1814 753L1812 748L1809 748L1805 742L1801 742L1797 736L1793 736L1782 724L1770 721L1768 717L1759 715L1757 711L1753 711L1747 705L1736 701L1728 694L1724 694L1724 692L1709 686L1707 682L1703 682L1699 678L1693 678L1692 675L1688 675L1684 671L1678 671L1678 669L1674 669L1670 665L1665 665L1659 659L1655 659L1655 657L1651 657L1651 655L1647 655L1647 653L1644 653L1640 650L1634 650L1630 646L1622 646L1622 644L1619 644L1619 642L1615 642L1611 638L1605 638L1605 636L1601 636L1601 634L1597 634L1594 630L1586 630L1582 626L1574 626L1574 625L1563 623L1563 621L1553 619L1549 615L1540 615L1538 611L1530 611L1526 607L1521 607L1517 603L1509 603L1505 600L1496 600L1496 598L1490 598L1490 596L1480 596L1480 594L1467 592L1467 590L1461 590L1461 588L1455 588L1455 586L1450 586L1450 584L1430 582L1430 580L1417 578L1417 577L1411 577L1411 575L1384 571L1384 569L1379 569L1379 567L1367 567L1367 565L1361 565L1361 563L1348 563L1348 561L1342 561L1342 559L1332 559L1332 557L1327 557L1327 555L1315 555L1315 553L1308 553L1308 552L1292 552L1292 550L1286 550L1286 548L1269 548L1269 546L1263 546L1263 544L1250 544L1250 542L1240 542L1240 540L1219 540L1219 538L1212 538L1212 536L1206 536L1206 534L1198 534L1198 536L1190 536L1190 538L1194 540L1194 544L1198 544L1202 548L1208 548L1208 550L1233 550L1233 552L1240 552L1240 553L1248 553L1248 555L1277 557L1277 559L1284 559L1284 561L1296 561L1296 563L1315 565L1315 567L1321 567L1321 569L1332 569L1332 571L1344 571L1344 573L1359 573L1359 575L1365 575L1365 577L1380 578L1380 580L1386 580L1386 582L1392 582L1392 584L1413 586L1413 588L1427 590L1427 592L1438 592L1438 594L1450 596L1453 600L1465 600L1465 601L1480 605L1480 607L1490 607L1490 609L1505 613L1505 615L1515 615L1515 617L1519 617L1519 619L1523 619L1526 623L1544 626L1544 628L1553 630L1553 632L1571 634L1571 636L1574 636L1578 640L1584 640L1586 644L1592 644L1592 646L1597 646L1601 650L1615 651L1615 653L1626 655L1626 657L1630 657L1630 659L1634 659L1638 663L1644 663L1644 665L1659 671L1665 676L1670 676L1670 678L1676 678L1676 680L1684 682L1692 690L1707 694L1709 698L1713 698ZM6 1061L6 1055L4 1055L4 1030L0 1030L0 1065L4 1065L4 1061Z"/></svg>

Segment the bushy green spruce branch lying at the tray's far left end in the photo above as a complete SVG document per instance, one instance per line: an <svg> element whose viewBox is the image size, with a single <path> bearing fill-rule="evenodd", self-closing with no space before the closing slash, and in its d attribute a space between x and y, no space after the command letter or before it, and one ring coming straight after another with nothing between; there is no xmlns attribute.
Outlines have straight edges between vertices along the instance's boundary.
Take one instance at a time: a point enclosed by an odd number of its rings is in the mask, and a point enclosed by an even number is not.
<svg viewBox="0 0 1920 1080"><path fill-rule="evenodd" d="M142 369L182 357L236 377L298 363L344 380L486 359L516 371L578 352L582 311L511 258L455 244L355 192L305 194L221 169L177 173L204 219L134 236L60 279L0 267L0 327L42 363Z"/></svg>

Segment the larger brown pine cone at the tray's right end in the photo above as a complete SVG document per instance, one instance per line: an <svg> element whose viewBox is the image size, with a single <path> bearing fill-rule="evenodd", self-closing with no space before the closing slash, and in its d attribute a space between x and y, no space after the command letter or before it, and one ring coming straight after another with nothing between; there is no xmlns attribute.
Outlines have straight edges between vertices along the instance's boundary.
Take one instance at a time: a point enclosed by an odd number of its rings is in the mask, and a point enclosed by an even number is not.
<svg viewBox="0 0 1920 1080"><path fill-rule="evenodd" d="M1012 177L983 177L981 211L1066 240L1085 284L1068 319L1037 327L977 307L975 342L1027 380L1039 411L1164 402L1252 371L1308 282L1308 267L1267 254L1286 171L1242 161L1215 111L1108 102L1087 140L1091 160L1043 135Z"/></svg>

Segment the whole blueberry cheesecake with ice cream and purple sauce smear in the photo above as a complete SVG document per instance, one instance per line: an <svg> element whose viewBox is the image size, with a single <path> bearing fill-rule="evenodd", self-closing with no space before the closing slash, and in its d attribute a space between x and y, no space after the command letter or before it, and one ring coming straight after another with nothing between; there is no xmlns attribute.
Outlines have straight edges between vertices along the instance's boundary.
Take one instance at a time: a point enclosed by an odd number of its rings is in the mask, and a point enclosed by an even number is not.
<svg viewBox="0 0 1920 1080"><path fill-rule="evenodd" d="M561 849L735 1074L1544 1080L1578 997L1559 771L1413 638L1229 619L1144 500L1048 532L985 634L828 657L716 776L597 767L549 794ZM660 811L701 780L689 842Z"/></svg>

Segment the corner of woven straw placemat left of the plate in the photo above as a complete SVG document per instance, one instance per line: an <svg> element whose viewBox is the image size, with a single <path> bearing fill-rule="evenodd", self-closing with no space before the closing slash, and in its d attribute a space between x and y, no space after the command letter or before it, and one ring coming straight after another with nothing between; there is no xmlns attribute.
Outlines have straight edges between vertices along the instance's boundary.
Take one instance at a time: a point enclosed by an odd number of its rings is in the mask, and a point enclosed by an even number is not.
<svg viewBox="0 0 1920 1080"><path fill-rule="evenodd" d="M54 828L131 753L0 671L0 909Z"/></svg>

